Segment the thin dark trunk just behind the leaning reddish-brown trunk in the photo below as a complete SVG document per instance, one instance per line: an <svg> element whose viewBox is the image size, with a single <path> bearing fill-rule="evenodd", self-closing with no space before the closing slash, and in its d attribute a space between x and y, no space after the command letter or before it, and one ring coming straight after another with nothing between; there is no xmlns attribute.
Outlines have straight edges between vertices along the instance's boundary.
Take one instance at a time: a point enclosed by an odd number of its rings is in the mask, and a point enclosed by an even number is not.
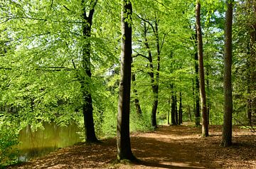
<svg viewBox="0 0 256 169"><path fill-rule="evenodd" d="M197 31L196 31L196 48L198 48L198 40L197 40ZM195 81L196 81L196 88L194 89L194 94L195 94L195 102L196 102L196 113L195 113L195 121L196 121L196 126L200 126L200 104L199 104L199 80L198 80L198 52L196 50L195 53Z"/></svg>

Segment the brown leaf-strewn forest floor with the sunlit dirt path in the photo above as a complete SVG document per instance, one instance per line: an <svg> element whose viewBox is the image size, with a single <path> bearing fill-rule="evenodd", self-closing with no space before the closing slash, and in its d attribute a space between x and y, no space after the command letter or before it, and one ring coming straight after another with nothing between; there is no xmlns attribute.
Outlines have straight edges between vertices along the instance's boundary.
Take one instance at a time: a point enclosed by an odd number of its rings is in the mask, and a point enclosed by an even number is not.
<svg viewBox="0 0 256 169"><path fill-rule="evenodd" d="M201 138L201 128L159 126L156 131L132 133L132 151L139 163L113 163L116 140L61 148L9 168L256 168L256 133L238 126L233 129L233 146L220 146L221 126L210 126L210 136Z"/></svg>

